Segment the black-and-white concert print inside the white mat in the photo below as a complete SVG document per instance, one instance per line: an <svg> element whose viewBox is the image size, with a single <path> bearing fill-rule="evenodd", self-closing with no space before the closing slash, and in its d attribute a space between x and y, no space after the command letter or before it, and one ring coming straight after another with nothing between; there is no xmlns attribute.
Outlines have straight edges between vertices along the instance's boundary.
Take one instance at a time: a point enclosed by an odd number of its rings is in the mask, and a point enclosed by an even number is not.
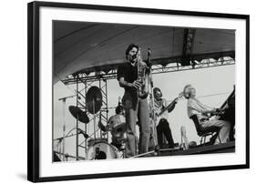
<svg viewBox="0 0 256 184"><path fill-rule="evenodd" d="M53 22L53 161L235 153L235 30Z"/></svg>

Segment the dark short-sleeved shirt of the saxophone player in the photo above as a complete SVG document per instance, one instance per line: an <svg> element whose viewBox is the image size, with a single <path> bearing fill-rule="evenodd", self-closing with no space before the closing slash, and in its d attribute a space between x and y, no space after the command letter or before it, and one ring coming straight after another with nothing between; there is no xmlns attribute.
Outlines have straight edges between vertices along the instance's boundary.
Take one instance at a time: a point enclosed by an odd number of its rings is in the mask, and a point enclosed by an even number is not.
<svg viewBox="0 0 256 184"><path fill-rule="evenodd" d="M132 66L130 63L124 63L118 66L118 81L120 77L124 77L128 83L133 83L138 78L138 67ZM136 93L135 87L125 87L126 92Z"/></svg>

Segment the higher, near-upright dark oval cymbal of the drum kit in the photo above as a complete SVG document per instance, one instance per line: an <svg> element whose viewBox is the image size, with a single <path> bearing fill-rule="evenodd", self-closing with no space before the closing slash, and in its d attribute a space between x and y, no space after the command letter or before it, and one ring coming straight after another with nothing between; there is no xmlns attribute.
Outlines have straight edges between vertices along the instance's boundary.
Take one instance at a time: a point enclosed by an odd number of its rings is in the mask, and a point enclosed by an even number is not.
<svg viewBox="0 0 256 184"><path fill-rule="evenodd" d="M102 106L102 94L98 87L90 87L86 97L87 111L96 114Z"/></svg>

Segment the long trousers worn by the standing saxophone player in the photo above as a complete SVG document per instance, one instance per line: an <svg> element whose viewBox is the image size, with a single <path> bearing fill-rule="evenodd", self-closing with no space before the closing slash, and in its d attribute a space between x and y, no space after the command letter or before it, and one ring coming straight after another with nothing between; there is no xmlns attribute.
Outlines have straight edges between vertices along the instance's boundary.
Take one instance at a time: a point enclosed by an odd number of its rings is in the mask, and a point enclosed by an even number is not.
<svg viewBox="0 0 256 184"><path fill-rule="evenodd" d="M137 155L137 138L136 138L136 124L138 119L139 124L139 145L138 154L148 152L149 146L149 114L148 114L148 100L131 96L126 93L122 99L127 124L127 138L126 157L133 157Z"/></svg>

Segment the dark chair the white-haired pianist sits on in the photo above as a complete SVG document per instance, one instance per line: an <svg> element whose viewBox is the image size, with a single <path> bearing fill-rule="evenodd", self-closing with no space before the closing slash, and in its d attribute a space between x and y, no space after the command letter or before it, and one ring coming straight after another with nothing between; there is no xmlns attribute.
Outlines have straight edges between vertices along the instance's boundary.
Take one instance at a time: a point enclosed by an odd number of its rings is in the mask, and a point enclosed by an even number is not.
<svg viewBox="0 0 256 184"><path fill-rule="evenodd" d="M220 128L218 128L218 127L202 128L200 126L200 121L199 121L197 115L191 116L190 119L193 120L195 127L197 129L198 135L200 136L200 145L202 145L202 142L203 142L203 145L205 145L205 140L208 136L211 136L210 142L212 144L214 143L216 138L219 138L219 140L220 140L220 137L219 137Z"/></svg>

